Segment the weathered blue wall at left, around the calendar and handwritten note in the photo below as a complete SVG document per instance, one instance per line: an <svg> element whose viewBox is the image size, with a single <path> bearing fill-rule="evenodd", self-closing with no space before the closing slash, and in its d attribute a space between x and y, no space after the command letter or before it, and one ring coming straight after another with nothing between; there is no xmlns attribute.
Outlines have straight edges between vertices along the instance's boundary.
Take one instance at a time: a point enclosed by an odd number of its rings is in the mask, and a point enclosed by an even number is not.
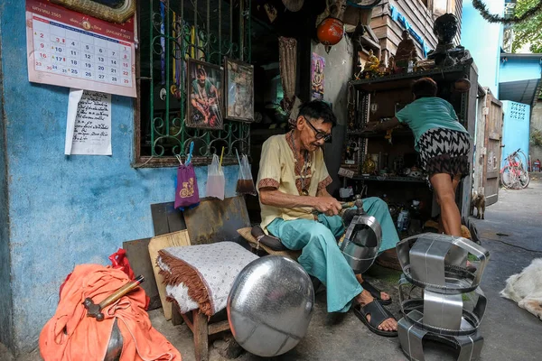
<svg viewBox="0 0 542 361"><path fill-rule="evenodd" d="M59 286L74 265L107 264L123 241L154 235L150 204L173 200L176 170L130 167L134 103L127 97L112 97L113 156L65 156L69 90L28 82L24 1L6 0L0 10L6 75L6 143L0 145L8 163L8 174L0 176L7 176L10 198L9 229L3 231L11 235L6 254L3 234L0 261L11 256L14 306L13 315L5 314L10 298L0 287L0 326L5 334L13 319L8 333L14 348L26 351L37 346L43 324L56 310ZM224 171L226 196L232 197L238 167ZM204 197L207 167L196 175ZM0 282L5 282L9 277L2 267Z"/></svg>

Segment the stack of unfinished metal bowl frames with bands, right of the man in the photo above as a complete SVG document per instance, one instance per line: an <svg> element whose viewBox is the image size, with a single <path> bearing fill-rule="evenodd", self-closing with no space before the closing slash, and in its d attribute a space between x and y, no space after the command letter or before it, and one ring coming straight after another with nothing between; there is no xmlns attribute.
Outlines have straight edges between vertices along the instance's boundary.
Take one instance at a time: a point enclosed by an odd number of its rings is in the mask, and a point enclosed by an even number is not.
<svg viewBox="0 0 542 361"><path fill-rule="evenodd" d="M468 255L479 260L474 273L467 270ZM426 233L399 242L397 256L403 268L399 301L404 315L398 336L405 355L425 360L422 341L433 339L458 348L458 361L477 359L486 307L479 284L488 251L466 238ZM470 296L472 302L463 301Z"/></svg>

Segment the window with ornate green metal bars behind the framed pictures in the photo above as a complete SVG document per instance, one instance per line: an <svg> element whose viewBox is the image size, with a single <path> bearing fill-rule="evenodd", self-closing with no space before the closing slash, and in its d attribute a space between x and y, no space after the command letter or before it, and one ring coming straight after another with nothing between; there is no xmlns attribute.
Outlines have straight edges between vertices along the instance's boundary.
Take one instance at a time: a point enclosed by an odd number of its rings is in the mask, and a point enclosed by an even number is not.
<svg viewBox="0 0 542 361"><path fill-rule="evenodd" d="M222 130L187 126L186 67L189 58L220 67L224 57L250 62L250 1L150 0L137 7L135 166L178 164L192 142L194 164L209 163L222 148L223 164L237 162L236 150L249 153L249 125L224 119Z"/></svg>

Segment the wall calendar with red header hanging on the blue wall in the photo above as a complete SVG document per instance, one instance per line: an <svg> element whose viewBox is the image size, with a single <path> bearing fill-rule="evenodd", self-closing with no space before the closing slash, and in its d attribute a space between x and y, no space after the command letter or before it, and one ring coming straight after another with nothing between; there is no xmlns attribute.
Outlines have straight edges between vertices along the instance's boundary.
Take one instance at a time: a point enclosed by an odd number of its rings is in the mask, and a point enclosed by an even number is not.
<svg viewBox="0 0 542 361"><path fill-rule="evenodd" d="M48 1L26 1L32 82L136 97L134 23L107 23Z"/></svg>

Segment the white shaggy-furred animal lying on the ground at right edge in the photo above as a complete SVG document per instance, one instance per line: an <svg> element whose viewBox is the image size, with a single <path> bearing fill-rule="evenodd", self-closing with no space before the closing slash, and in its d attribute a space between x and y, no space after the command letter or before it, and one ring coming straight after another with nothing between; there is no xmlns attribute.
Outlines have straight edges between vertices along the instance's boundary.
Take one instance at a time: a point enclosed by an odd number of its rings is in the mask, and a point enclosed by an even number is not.
<svg viewBox="0 0 542 361"><path fill-rule="evenodd" d="M521 273L511 275L500 295L542 319L542 258L534 259Z"/></svg>

